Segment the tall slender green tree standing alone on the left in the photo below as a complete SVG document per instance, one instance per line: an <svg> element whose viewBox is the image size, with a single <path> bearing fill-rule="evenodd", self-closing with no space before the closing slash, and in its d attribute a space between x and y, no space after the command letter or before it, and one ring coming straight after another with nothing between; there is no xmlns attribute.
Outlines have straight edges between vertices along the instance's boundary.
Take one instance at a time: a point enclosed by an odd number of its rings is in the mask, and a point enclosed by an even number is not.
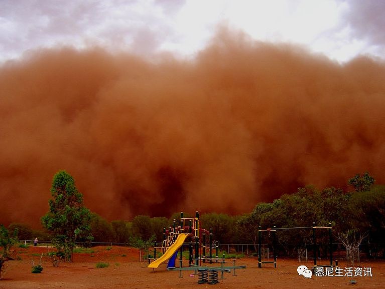
<svg viewBox="0 0 385 289"><path fill-rule="evenodd" d="M66 171L59 171L52 180L49 212L41 219L52 233L52 242L72 262L76 240L92 240L91 212L83 205L83 195L76 189L75 181Z"/></svg>

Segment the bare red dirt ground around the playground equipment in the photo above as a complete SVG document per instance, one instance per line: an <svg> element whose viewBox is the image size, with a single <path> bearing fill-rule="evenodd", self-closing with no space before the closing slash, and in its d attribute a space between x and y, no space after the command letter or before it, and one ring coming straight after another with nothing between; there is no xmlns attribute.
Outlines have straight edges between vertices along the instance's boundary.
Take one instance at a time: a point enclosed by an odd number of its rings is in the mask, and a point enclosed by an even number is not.
<svg viewBox="0 0 385 289"><path fill-rule="evenodd" d="M356 267L370 267L372 276L312 276L305 278L298 275L299 265L312 266L311 262L299 263L293 259L279 259L277 268L266 264L258 268L256 257L238 259L236 265L246 265L245 269L236 270L236 276L224 273L215 285L198 284L194 271L183 271L179 278L178 271L168 271L166 264L153 271L147 268L147 262L139 261L139 250L127 247L93 247L90 253L75 253L74 262L62 262L54 267L49 258L43 257L44 270L40 274L31 273L31 261L39 262L41 253L48 248L31 246L27 249L15 248L15 260L8 262L8 270L0 280L0 289L12 288L62 288L62 289L118 289L118 288L384 288L385 261L361 261ZM106 268L96 268L97 262L107 262ZM188 265L188 264L184 264ZM218 265L219 264L214 264ZM232 265L231 260L225 265ZM342 268L346 266L340 261ZM220 276L220 273L218 274ZM351 284L355 280L356 284Z"/></svg>

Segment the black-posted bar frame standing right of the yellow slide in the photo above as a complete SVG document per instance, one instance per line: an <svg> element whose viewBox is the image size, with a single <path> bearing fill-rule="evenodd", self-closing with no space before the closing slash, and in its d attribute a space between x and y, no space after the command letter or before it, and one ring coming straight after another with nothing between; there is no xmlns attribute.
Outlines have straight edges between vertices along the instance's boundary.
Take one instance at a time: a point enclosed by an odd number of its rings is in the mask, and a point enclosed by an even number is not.
<svg viewBox="0 0 385 289"><path fill-rule="evenodd" d="M314 266L315 267L332 267L333 266L333 239L332 239L332 226L331 223L329 223L329 226L316 226L316 223L313 222L312 226L309 227L291 227L291 228L276 228L276 226L268 229L261 229L261 226L259 226L258 230L258 267L261 268L262 264L264 263L274 263L274 267L277 267L277 254L276 254L276 232L278 230L294 230L294 229L312 229L313 230L313 256L314 256ZM330 257L330 264L327 265L317 265L317 236L316 236L316 230L317 229L328 229L329 230L329 257ZM262 232L268 232L269 236L270 233L273 235L273 255L274 255L274 261L262 261L262 253L261 253L261 247L262 247Z"/></svg>

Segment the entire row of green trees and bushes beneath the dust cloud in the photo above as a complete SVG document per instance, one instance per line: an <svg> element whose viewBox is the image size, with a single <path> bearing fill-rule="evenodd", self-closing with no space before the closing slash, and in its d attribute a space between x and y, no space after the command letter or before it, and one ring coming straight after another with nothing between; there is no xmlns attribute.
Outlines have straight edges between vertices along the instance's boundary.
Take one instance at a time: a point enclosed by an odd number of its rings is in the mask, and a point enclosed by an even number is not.
<svg viewBox="0 0 385 289"><path fill-rule="evenodd" d="M370 244L370 254L385 256L385 186L374 185L369 173L357 174L348 180L349 191L314 186L298 188L291 194L283 194L272 202L261 202L243 215L204 213L200 215L201 227L212 228L213 238L219 243L258 242L258 228L327 226L331 223L334 238L338 233L365 235ZM138 244L163 240L163 228L173 226L180 212L167 217L135 216L132 220L108 221L84 207L82 195L77 191L73 178L65 171L58 172L51 188L53 199L49 200L50 211L42 217L45 231L32 230L28 225L13 223L10 230L18 231L19 239L52 239L59 250L71 259L75 241L117 242ZM189 215L185 214L185 217ZM69 233L70 232L70 233ZM271 242L268 236L265 242ZM320 243L327 243L327 234L320 234ZM283 254L312 243L309 230L277 232L277 242ZM290 246L289 244L292 244Z"/></svg>

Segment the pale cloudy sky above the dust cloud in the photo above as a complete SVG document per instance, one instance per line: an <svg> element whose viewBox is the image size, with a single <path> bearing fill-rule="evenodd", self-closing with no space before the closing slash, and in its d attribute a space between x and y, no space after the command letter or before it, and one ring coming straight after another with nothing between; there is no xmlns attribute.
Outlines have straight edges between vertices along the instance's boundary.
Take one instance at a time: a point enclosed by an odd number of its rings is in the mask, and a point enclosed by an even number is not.
<svg viewBox="0 0 385 289"><path fill-rule="evenodd" d="M223 26L338 62L385 58L379 0L1 0L0 7L1 62L63 45L194 57Z"/></svg>

